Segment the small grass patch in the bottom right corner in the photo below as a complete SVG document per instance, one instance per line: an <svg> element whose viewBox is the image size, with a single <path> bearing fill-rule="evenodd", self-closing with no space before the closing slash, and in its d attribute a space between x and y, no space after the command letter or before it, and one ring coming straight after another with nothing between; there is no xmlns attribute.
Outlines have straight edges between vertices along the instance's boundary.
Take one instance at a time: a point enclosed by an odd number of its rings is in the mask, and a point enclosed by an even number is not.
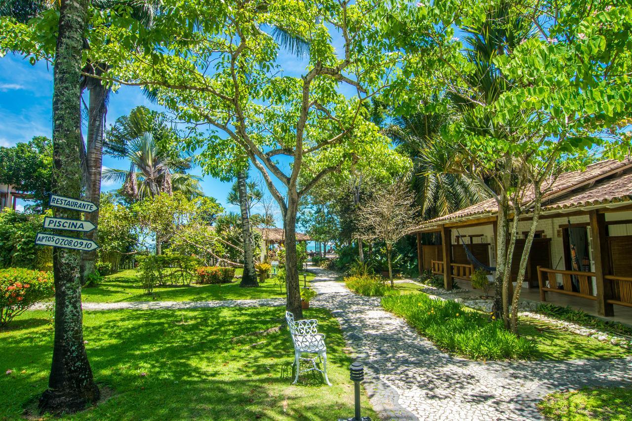
<svg viewBox="0 0 632 421"><path fill-rule="evenodd" d="M548 420L623 421L632 417L632 388L597 387L552 393L538 404Z"/></svg>

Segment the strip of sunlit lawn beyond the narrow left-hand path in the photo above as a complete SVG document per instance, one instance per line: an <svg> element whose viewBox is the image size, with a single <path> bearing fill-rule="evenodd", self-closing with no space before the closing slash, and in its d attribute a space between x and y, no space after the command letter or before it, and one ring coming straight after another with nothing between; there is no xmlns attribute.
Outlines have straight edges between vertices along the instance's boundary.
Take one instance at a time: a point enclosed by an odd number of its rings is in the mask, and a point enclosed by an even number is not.
<svg viewBox="0 0 632 421"><path fill-rule="evenodd" d="M241 269L239 269L241 271ZM190 286L166 286L154 288L152 295L144 293L138 271L120 271L108 275L99 284L92 288L83 288L82 301L97 303L115 303L125 301L207 301L207 300L247 300L251 298L284 297L285 289L281 290L268 279L259 288L240 288L239 279L229 284L196 285ZM301 286L303 276L300 276ZM313 275L307 276L307 281L313 279Z"/></svg>

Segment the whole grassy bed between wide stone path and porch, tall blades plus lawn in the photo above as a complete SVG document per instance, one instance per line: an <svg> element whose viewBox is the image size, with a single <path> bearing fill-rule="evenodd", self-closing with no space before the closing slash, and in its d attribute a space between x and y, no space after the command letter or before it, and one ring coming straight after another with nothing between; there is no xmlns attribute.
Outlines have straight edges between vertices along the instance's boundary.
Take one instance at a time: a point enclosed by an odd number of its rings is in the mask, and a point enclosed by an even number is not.
<svg viewBox="0 0 632 421"><path fill-rule="evenodd" d="M518 338L489 315L453 301L432 300L424 293L388 296L382 300L382 306L408 320L439 348L473 360L576 360L632 355L619 346L527 317L520 319Z"/></svg>

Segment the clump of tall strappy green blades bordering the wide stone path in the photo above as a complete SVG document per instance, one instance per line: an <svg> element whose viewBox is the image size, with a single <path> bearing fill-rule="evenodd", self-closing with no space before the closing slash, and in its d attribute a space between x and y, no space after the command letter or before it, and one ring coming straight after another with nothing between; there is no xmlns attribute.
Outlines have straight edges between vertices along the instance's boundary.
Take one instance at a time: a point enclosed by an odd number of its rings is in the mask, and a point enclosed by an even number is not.
<svg viewBox="0 0 632 421"><path fill-rule="evenodd" d="M425 294L388 296L386 310L404 317L423 336L444 350L475 360L516 360L533 357L533 341L518 338L487 317L451 300L432 300Z"/></svg>

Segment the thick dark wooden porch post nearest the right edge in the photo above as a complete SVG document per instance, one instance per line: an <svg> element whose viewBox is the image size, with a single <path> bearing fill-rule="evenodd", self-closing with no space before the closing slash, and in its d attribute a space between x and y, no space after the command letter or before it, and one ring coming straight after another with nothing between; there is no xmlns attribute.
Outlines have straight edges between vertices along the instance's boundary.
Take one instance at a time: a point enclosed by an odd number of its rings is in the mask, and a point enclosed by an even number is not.
<svg viewBox="0 0 632 421"><path fill-rule="evenodd" d="M590 233L592 237L593 259L595 260L595 281L597 283L597 313L605 316L614 315L614 308L607 300L612 298L610 281L604 276L610 274L610 255L606 239L605 215L591 210Z"/></svg>

